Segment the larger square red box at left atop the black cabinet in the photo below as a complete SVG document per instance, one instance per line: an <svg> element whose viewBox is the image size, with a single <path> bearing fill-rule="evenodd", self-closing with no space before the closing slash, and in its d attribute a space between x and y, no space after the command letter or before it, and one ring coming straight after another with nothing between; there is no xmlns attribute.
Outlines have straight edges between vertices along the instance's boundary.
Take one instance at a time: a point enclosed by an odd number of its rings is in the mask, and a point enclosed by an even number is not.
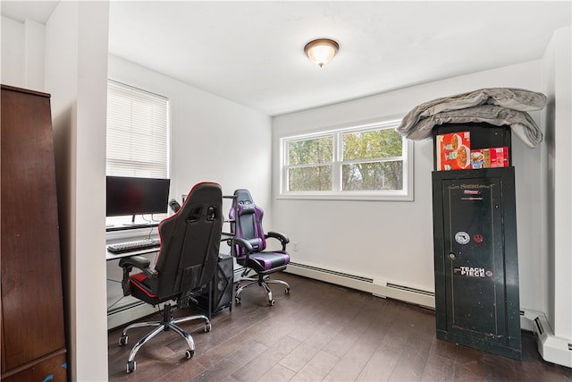
<svg viewBox="0 0 572 382"><path fill-rule="evenodd" d="M471 133L450 132L437 135L437 170L465 170L471 168Z"/></svg>

